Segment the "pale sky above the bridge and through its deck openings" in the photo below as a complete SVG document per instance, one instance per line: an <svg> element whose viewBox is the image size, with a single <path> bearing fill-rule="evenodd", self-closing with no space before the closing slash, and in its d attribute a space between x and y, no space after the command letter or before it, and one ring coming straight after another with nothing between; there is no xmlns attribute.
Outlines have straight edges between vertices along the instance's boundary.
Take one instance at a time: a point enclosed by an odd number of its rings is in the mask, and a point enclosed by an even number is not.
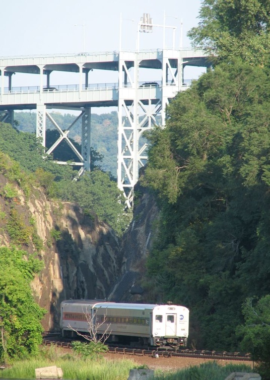
<svg viewBox="0 0 270 380"><path fill-rule="evenodd" d="M174 26L175 47L190 47L186 33L198 23L200 0L0 0L0 56L162 49L166 26ZM138 22L149 13L152 33L137 33ZM133 21L131 21L133 20ZM77 24L77 26L75 26ZM182 28L180 27L182 25ZM182 34L181 34L182 30ZM182 36L180 38L180 36ZM173 46L173 29L165 28L165 47ZM84 49L85 47L85 49ZM196 78L201 69L188 68L185 77ZM94 70L90 83L117 82L117 73ZM101 72L97 72L101 71ZM95 74L95 75L94 75ZM113 76L114 75L114 76ZM149 74L148 74L149 75ZM153 74L154 75L154 74ZM145 80L155 80L147 77ZM36 85L36 75L12 77L13 86ZM144 80L144 79L143 79ZM52 72L50 85L78 83L78 74ZM105 111L110 112L108 108ZM93 112L95 112L93 110Z"/></svg>

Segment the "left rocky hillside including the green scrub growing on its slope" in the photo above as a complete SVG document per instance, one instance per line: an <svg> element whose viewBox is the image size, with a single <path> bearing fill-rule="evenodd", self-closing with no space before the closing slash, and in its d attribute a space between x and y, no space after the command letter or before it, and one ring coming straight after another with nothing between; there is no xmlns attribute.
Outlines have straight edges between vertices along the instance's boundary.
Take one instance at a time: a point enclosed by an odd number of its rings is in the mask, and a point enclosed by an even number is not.
<svg viewBox="0 0 270 380"><path fill-rule="evenodd" d="M1 152L0 162L1 249L18 247L25 260L33 255L40 261L32 292L46 310L45 331L58 330L62 300L108 296L117 275L117 237L94 213L49 200L38 180ZM3 281L0 290L6 292Z"/></svg>

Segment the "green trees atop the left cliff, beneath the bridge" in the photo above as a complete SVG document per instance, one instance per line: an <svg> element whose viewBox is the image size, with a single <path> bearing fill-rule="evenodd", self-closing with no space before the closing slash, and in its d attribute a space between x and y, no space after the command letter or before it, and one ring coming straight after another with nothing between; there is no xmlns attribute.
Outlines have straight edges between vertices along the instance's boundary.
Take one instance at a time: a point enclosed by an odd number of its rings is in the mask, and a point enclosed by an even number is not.
<svg viewBox="0 0 270 380"><path fill-rule="evenodd" d="M24 170L32 173L26 175L21 169L19 170L17 164L18 172L13 176L13 180L22 183L20 178L25 176L25 183L28 181L36 186L42 186L49 198L58 197L62 201L78 202L85 214L96 213L101 220L109 223L119 236L127 228L131 220L131 210L124 211L125 200L109 173L94 170L74 180L77 171L70 165L58 165L51 157L46 157L43 147L34 135L19 133L3 123L0 128L0 150L2 149L19 160ZM97 162L101 160L101 155L93 149L91 152L92 168L98 167ZM3 153L0 152L0 158L1 154ZM0 172L3 170L7 174L10 167L11 164L1 163ZM56 213L60 215L59 211L55 208L55 215ZM50 242L47 241L47 244L50 245Z"/></svg>

